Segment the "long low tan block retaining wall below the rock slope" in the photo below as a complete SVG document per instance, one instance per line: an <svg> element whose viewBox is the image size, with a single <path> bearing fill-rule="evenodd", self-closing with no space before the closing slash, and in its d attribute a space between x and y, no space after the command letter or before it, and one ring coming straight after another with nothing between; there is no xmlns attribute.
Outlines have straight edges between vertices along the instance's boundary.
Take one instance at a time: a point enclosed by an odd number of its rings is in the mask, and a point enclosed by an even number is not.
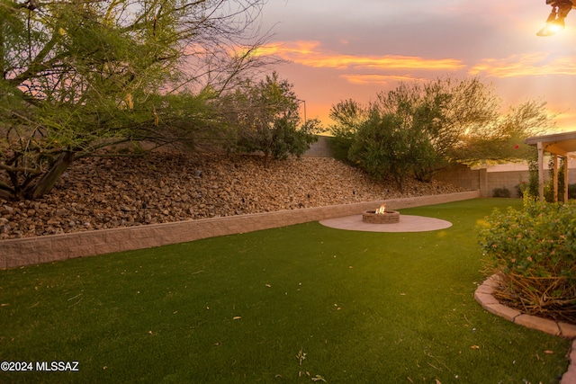
<svg viewBox="0 0 576 384"><path fill-rule="evenodd" d="M479 191L457 192L2 240L0 241L0 269L51 263L76 257L112 254L114 252L153 246L166 246L207 237L234 235L322 219L351 216L360 214L365 210L374 210L382 204L398 210L479 197Z"/></svg>

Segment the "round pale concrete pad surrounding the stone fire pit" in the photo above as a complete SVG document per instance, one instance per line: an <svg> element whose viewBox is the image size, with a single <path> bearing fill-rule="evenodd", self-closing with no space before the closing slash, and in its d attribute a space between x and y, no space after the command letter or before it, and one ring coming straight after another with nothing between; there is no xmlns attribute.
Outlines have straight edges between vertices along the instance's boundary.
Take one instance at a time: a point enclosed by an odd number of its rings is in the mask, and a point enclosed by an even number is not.
<svg viewBox="0 0 576 384"><path fill-rule="evenodd" d="M424 216L401 215L400 222L393 224L370 224L362 221L362 215L320 220L320 224L337 229L367 232L426 232L452 227L450 221Z"/></svg>

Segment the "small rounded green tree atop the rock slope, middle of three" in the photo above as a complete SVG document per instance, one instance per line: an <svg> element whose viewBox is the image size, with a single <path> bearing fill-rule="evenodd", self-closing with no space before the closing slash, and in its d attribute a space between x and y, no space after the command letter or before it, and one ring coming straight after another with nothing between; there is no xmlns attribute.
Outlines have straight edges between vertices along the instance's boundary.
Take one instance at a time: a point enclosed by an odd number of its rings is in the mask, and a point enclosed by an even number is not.
<svg viewBox="0 0 576 384"><path fill-rule="evenodd" d="M305 121L301 126L300 101L293 85L276 72L257 84L247 79L225 103L222 109L229 111L229 127L235 136L233 149L261 151L266 167L271 157L302 156L317 140L313 132L320 129L320 121Z"/></svg>

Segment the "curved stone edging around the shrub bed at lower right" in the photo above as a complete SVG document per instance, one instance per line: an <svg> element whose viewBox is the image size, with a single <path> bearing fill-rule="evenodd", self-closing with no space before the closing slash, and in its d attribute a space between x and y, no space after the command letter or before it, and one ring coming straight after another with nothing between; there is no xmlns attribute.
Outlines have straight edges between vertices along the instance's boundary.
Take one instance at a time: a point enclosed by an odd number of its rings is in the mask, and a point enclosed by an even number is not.
<svg viewBox="0 0 576 384"><path fill-rule="evenodd" d="M482 305L482 308L492 314L530 329L536 329L549 335L560 336L572 340L572 350L570 352L570 365L568 371L563 374L561 384L576 384L576 326L560 321L549 320L542 317L524 314L516 309L500 304L492 293L498 285L499 277L491 275L474 291L474 299Z"/></svg>

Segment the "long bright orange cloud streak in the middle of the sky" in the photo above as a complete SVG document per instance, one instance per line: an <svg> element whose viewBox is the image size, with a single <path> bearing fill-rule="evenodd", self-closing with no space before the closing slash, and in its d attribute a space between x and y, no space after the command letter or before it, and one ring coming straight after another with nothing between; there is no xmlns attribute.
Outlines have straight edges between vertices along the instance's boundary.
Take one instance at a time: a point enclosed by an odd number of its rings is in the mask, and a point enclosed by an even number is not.
<svg viewBox="0 0 576 384"><path fill-rule="evenodd" d="M275 55L307 67L455 70L464 67L455 58L419 58L414 56L355 56L325 51L318 41L293 41L262 47L258 55Z"/></svg>

